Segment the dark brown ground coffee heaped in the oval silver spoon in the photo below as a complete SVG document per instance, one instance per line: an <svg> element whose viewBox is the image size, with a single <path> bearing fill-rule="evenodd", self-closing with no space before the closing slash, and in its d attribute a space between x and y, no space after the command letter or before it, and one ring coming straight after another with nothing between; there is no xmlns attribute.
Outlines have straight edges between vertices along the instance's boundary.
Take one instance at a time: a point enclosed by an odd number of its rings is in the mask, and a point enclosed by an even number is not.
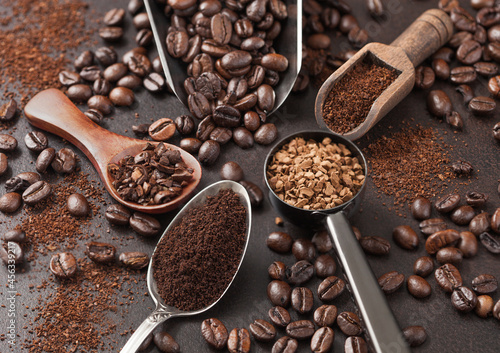
<svg viewBox="0 0 500 353"><path fill-rule="evenodd" d="M158 243L153 277L167 305L198 310L231 282L245 246L247 211L231 189L189 210Z"/></svg>

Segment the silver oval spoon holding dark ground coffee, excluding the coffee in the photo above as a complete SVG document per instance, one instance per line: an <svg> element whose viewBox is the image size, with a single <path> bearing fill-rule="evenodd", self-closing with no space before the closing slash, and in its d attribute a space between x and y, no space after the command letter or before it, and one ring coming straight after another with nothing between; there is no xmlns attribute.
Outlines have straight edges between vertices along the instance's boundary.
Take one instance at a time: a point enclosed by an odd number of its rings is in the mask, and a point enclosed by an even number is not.
<svg viewBox="0 0 500 353"><path fill-rule="evenodd" d="M240 201L243 203L243 206L245 207L247 211L247 217L246 217L246 226L247 226L247 231L246 231L246 240L245 240L245 246L243 248L243 253L241 254L240 258L240 263L238 264L238 268L236 272L233 275L233 278L231 279L231 282L229 282L227 288L224 290L224 292L221 294L221 296L213 303L210 305L199 309L199 310L193 310L193 311L183 311L179 310L173 306L168 306L163 302L163 299L160 297L158 294L158 288L156 287L156 281L154 280L153 277L153 268L152 268L152 263L153 260L149 262L149 267L148 267L148 275L147 275L147 281L148 281L148 290L149 290L149 295L151 298L153 298L153 301L156 304L155 310L144 320L144 322L137 328L137 330L134 332L132 337L128 340L127 344L122 348L120 353L135 353L137 351L137 348L142 344L142 342L146 339L146 337L155 329L156 326L161 324L162 322L173 318L173 317L182 317L182 316L192 316L192 315L197 315L200 314L204 311L207 311L211 307L213 307L215 304L219 302L219 300L226 294L227 290L231 286L231 283L233 283L234 279L236 278L236 275L238 274L238 271L241 267L241 263L243 262L243 258L245 257L245 253L248 247L248 240L250 238L250 227L252 225L252 208L250 205L250 197L248 196L247 191L243 186L240 184L234 182L234 181L219 181L217 183L214 183L212 185L207 186L205 189L200 191L196 196L194 196L191 201L189 201L186 206L184 206L177 216L170 222L168 225L167 229L165 229L165 232L163 232L163 235L161 236L160 240L158 243L161 241L161 239L165 236L165 234L168 233L168 231L175 225L179 223L181 218L184 216L184 214L192 209L193 207L202 205L205 203L207 196L214 196L216 195L221 189L232 189L235 193L237 193L240 196ZM154 250L156 252L156 248ZM153 259L154 256L151 256L151 259Z"/></svg>

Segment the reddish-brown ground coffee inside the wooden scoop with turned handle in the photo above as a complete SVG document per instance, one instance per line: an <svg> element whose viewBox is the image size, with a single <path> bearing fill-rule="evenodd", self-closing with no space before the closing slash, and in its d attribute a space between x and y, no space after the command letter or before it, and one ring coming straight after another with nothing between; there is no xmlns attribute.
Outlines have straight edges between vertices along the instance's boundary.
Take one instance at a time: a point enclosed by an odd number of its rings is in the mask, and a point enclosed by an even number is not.
<svg viewBox="0 0 500 353"><path fill-rule="evenodd" d="M365 121L373 102L399 76L396 70L364 60L346 73L323 104L326 125L345 134Z"/></svg>

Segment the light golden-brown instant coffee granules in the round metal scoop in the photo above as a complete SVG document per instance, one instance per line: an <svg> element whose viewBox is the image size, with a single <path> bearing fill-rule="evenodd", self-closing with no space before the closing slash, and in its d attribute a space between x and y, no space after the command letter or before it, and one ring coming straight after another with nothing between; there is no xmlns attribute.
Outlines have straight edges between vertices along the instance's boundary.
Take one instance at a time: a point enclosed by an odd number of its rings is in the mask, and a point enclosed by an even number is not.
<svg viewBox="0 0 500 353"><path fill-rule="evenodd" d="M266 171L269 185L286 203L325 210L352 199L365 180L357 157L330 138L321 142L296 137L277 151Z"/></svg>

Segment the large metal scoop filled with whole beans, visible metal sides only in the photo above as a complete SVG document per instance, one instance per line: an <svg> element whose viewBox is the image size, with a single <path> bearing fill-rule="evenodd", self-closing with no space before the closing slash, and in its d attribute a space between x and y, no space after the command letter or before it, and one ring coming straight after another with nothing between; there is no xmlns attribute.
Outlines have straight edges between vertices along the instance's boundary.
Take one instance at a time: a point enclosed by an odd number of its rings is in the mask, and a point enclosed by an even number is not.
<svg viewBox="0 0 500 353"><path fill-rule="evenodd" d="M280 82L274 88L275 105L267 113L268 115L274 113L286 100L302 65L302 1L289 0L286 4L288 18L283 22L281 34L276 38L273 46L277 53L288 59L288 69L280 75ZM154 0L144 0L144 5L167 83L177 98L187 107L188 95L184 90L184 80L188 77L187 64L181 59L172 58L167 51L166 38L170 21Z"/></svg>

